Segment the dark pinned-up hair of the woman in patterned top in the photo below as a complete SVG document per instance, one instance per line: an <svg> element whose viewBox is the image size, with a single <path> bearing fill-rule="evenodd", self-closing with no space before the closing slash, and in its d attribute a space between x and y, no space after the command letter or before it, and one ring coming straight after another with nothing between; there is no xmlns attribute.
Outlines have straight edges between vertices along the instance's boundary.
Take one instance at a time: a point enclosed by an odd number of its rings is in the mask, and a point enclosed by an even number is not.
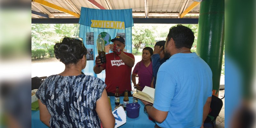
<svg viewBox="0 0 256 128"><path fill-rule="evenodd" d="M54 54L65 65L76 64L87 54L87 49L82 40L65 36L54 45Z"/></svg>

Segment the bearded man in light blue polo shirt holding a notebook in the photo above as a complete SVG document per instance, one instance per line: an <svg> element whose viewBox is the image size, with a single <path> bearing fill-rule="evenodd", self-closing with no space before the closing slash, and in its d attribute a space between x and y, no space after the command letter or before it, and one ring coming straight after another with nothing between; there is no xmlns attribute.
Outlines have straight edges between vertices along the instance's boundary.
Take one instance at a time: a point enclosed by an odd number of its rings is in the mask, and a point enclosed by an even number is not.
<svg viewBox="0 0 256 128"><path fill-rule="evenodd" d="M212 71L190 51L194 38L188 27L170 28L164 51L171 57L158 70L154 105L142 101L155 128L203 127L212 99Z"/></svg>

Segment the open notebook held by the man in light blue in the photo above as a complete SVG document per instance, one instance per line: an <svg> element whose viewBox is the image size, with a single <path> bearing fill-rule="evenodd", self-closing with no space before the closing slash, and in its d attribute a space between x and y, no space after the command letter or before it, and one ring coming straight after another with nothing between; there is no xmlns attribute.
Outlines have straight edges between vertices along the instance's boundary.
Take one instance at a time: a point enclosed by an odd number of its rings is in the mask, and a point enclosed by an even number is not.
<svg viewBox="0 0 256 128"><path fill-rule="evenodd" d="M155 97L155 89L145 86L142 91L137 90L133 93L133 97L136 97L140 100L148 101L149 103L154 103L154 97Z"/></svg>

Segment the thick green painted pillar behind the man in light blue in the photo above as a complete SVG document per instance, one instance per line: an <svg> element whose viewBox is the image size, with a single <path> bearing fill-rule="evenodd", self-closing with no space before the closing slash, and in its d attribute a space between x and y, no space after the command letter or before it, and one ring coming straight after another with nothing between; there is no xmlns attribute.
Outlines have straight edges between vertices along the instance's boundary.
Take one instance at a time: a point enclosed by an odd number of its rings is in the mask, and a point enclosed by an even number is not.
<svg viewBox="0 0 256 128"><path fill-rule="evenodd" d="M196 53L212 69L212 94L219 96L224 47L224 0L200 3Z"/></svg>

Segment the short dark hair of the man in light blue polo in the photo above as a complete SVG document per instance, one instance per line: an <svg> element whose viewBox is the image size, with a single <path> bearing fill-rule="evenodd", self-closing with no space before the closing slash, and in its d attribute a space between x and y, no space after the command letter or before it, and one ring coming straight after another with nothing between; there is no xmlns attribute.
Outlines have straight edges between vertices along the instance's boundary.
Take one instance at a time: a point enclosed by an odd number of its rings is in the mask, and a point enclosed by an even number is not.
<svg viewBox="0 0 256 128"><path fill-rule="evenodd" d="M174 40L175 47L177 49L180 49L182 47L187 47L191 49L192 44L194 43L195 36L190 28L178 24L170 28L167 42L170 41L171 38Z"/></svg>

